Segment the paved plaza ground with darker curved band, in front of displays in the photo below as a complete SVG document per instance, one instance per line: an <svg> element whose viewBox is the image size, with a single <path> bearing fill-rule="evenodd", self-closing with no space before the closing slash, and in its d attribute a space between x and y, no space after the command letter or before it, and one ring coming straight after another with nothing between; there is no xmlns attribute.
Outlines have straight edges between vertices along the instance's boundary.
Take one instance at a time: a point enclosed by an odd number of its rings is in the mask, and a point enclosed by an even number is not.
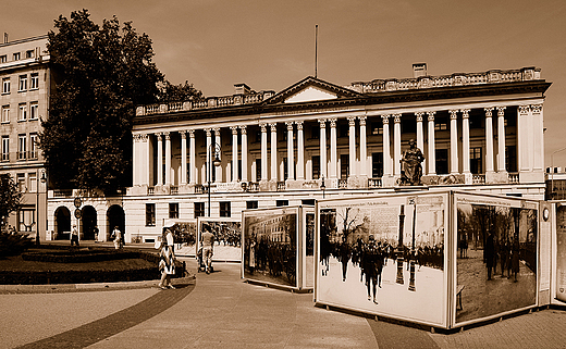
<svg viewBox="0 0 566 349"><path fill-rule="evenodd" d="M533 311L439 334L315 307L312 294L243 283L238 263L159 290L4 288L0 348L564 348L566 311Z"/></svg>

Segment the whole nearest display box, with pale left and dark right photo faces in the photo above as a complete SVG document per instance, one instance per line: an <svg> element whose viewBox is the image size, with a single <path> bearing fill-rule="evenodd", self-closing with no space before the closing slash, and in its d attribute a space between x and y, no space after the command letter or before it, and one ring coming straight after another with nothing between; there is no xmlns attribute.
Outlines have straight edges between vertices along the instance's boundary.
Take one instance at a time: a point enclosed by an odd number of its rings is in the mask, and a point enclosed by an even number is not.
<svg viewBox="0 0 566 349"><path fill-rule="evenodd" d="M537 307L538 214L452 190L319 201L315 300L446 329Z"/></svg>

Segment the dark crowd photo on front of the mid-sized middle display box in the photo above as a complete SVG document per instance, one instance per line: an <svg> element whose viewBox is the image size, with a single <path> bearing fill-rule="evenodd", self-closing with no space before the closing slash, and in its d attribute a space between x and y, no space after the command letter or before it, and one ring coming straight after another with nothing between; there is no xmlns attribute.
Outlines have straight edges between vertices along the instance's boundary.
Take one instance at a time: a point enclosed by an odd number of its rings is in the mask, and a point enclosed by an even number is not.
<svg viewBox="0 0 566 349"><path fill-rule="evenodd" d="M244 219L244 277L296 287L297 211L268 212Z"/></svg>

